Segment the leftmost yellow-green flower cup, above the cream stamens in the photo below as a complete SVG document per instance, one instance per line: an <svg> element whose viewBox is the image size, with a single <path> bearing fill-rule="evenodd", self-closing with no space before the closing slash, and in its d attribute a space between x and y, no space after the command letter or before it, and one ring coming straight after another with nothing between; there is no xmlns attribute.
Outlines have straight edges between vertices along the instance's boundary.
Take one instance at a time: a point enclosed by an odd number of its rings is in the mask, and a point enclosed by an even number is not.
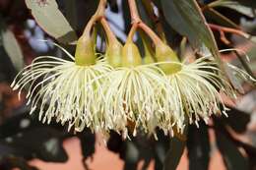
<svg viewBox="0 0 256 170"><path fill-rule="evenodd" d="M78 39L75 62L79 66L96 64L95 43L92 37L81 36Z"/></svg>

